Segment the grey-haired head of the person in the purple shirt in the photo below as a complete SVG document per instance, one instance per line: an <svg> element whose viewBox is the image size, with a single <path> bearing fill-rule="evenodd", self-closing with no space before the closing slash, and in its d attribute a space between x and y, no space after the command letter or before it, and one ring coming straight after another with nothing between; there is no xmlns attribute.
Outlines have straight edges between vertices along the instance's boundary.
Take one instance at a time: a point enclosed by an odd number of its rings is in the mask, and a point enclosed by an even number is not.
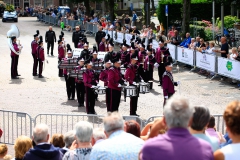
<svg viewBox="0 0 240 160"><path fill-rule="evenodd" d="M164 107L164 117L168 128L187 128L189 120L193 115L193 107L189 105L188 99L174 95Z"/></svg>

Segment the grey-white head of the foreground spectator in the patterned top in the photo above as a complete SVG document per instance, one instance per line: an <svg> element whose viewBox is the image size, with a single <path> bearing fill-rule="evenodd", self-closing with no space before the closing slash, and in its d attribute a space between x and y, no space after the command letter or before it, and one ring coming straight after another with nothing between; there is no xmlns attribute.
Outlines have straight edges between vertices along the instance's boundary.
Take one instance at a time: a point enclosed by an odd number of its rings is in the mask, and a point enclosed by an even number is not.
<svg viewBox="0 0 240 160"><path fill-rule="evenodd" d="M75 135L79 142L90 142L93 126L86 121L80 121L75 125Z"/></svg>

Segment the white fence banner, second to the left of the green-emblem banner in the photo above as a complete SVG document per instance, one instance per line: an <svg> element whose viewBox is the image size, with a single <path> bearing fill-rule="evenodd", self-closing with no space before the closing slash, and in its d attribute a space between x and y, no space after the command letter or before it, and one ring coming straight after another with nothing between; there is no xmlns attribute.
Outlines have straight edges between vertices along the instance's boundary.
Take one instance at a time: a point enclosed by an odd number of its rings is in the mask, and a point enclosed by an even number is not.
<svg viewBox="0 0 240 160"><path fill-rule="evenodd" d="M193 50L177 47L177 61L193 66Z"/></svg>

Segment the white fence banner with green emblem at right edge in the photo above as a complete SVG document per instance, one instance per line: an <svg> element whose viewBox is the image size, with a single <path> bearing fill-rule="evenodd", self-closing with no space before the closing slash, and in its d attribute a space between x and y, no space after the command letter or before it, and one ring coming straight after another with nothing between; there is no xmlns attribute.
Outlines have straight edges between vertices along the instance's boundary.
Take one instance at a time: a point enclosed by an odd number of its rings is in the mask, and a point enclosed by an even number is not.
<svg viewBox="0 0 240 160"><path fill-rule="evenodd" d="M218 57L218 73L233 79L240 80L240 62Z"/></svg>

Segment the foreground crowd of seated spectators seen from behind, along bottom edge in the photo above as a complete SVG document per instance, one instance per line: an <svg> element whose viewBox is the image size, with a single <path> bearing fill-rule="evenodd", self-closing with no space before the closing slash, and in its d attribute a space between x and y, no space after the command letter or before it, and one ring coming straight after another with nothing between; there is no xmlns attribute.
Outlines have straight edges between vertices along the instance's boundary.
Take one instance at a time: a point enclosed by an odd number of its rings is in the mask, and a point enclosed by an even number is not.
<svg viewBox="0 0 240 160"><path fill-rule="evenodd" d="M240 102L224 111L226 134L215 128L215 119L204 106L192 106L179 95L170 98L164 117L147 124L125 121L118 112L103 118L103 128L77 122L64 135L49 135L46 124L37 124L30 139L19 136L13 160L238 160L240 157ZM3 133L4 134L4 133ZM11 159L0 144L0 159Z"/></svg>

